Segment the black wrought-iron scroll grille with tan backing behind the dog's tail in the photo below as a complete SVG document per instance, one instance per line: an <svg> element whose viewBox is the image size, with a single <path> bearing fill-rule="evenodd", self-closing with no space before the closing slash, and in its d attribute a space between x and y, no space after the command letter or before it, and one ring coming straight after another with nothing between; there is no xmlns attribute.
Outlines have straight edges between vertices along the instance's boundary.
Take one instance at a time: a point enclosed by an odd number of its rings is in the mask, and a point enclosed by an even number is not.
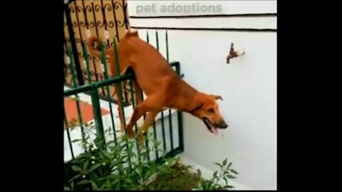
<svg viewBox="0 0 342 192"><path fill-rule="evenodd" d="M113 46L113 39L119 42L125 29L130 28L126 0L64 0L64 54L67 56L68 46L71 46L75 60L74 72L77 74L78 85L86 85L91 82L104 80L103 65L100 59L93 58L89 54L83 54L82 43L90 34L105 39L105 48ZM89 60L89 73L86 69L86 59ZM64 84L72 87L73 78L70 62L66 60L64 65ZM108 76L113 77L108 73ZM90 81L89 81L90 80ZM123 85L123 104L131 105L129 85ZM99 88L100 98L118 103L115 88L109 87L107 92L103 87ZM108 97L108 95L110 97Z"/></svg>

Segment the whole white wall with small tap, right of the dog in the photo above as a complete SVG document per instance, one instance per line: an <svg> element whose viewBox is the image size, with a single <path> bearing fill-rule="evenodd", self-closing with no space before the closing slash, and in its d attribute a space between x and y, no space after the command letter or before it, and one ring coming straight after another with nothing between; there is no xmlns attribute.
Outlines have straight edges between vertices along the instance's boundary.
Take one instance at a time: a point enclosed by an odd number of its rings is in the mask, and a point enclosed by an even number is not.
<svg viewBox="0 0 342 192"><path fill-rule="evenodd" d="M224 14L276 13L276 1L219 2L227 10ZM130 15L136 15L138 4L148 3L151 1L128 1ZM276 28L276 17L181 19L130 18L130 23L149 27ZM150 42L155 44L155 30L148 31ZM165 31L159 32L160 48L165 53ZM139 33L145 38L146 30ZM276 33L172 30L168 35L170 60L180 61L181 72L193 87L222 95L219 106L229 124L214 137L201 120L184 114L182 156L211 171L217 169L214 162L228 158L239 172L236 182L240 185L253 190L276 189ZM244 49L246 55L227 65L230 43Z"/></svg>

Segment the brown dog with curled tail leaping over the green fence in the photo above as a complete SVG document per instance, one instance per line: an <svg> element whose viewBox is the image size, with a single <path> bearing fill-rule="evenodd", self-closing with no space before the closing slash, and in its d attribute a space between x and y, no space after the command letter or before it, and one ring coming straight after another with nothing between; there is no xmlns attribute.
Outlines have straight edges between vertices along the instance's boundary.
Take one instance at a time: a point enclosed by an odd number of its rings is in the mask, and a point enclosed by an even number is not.
<svg viewBox="0 0 342 192"><path fill-rule="evenodd" d="M135 107L126 127L128 135L133 137L133 126L147 113L145 122L138 129L140 146L143 144L142 133L147 132L157 114L167 108L188 112L202 119L209 132L214 134L217 134L217 128L228 127L216 102L222 100L222 97L199 92L178 77L160 52L139 38L138 31L131 29L126 32L118 44L118 53L123 71L131 66L138 82L137 87L147 95ZM113 54L108 54L110 60L113 60ZM110 65L113 65L110 68L115 66L113 62Z"/></svg>

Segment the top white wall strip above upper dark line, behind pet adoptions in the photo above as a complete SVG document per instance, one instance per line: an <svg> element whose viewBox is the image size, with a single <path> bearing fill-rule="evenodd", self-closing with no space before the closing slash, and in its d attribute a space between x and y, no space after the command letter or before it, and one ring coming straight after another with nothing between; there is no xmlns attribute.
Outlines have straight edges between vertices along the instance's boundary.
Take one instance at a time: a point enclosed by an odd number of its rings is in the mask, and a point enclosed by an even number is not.
<svg viewBox="0 0 342 192"><path fill-rule="evenodd" d="M173 6L173 8L172 8ZM177 7L178 6L178 7ZM181 7L180 7L181 6ZM187 6L187 8L185 7ZM207 6L207 8L202 8ZM214 8L209 7L214 6ZM170 7L170 8L169 8ZM190 9L189 9L190 7ZM219 7L219 8L218 8ZM166 8L166 11L163 9ZM202 9L202 11L201 11ZM130 16L175 16L203 14L274 14L276 1L131 1Z"/></svg>

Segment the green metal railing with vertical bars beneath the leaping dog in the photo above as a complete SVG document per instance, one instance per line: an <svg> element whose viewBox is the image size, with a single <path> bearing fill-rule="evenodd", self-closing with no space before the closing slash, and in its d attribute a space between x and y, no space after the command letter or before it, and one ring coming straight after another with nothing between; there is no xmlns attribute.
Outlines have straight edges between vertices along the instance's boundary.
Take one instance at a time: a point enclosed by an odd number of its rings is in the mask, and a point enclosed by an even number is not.
<svg viewBox="0 0 342 192"><path fill-rule="evenodd" d="M158 33L156 32L155 33L156 35L156 43L157 43L157 50L160 50L160 47L159 47L159 39L158 39ZM149 36L148 36L148 33L146 35L147 37L147 42L149 42ZM168 39L167 39L167 31L165 33L165 41L166 41L166 58L167 58L167 61L169 61L169 53L168 53ZM116 63L116 68L117 68L117 71L120 71L120 65L118 65L118 50L117 50L117 46L116 46L116 41L114 39L114 53L115 53L115 63ZM101 51L102 53L104 53L104 44L101 43ZM88 52L87 52L87 49L86 49L86 45L83 43L83 54L84 55L88 55ZM125 75L119 75L115 78L108 78L108 71L107 71L107 62L106 62L106 59L105 59L105 55L103 54L103 57L102 57L102 63L104 65L104 70L103 70L103 73L104 73L104 77L105 77L105 80L102 80L102 81L98 81L98 82L92 82L91 78L90 78L90 63L89 63L89 59L88 57L85 57L85 60L86 60L86 70L87 70L87 80L89 82L89 84L87 85L81 85L81 86L78 86L78 82L77 82L77 75L76 75L76 72L75 72L75 65L76 63L73 61L73 50L71 48L68 48L68 56L71 60L71 63L70 63L70 68L71 68L71 73L72 73L72 82L73 82L73 87L70 89L70 90L65 90L64 91L64 97L76 97L76 98L80 98L79 95L82 95L82 94L87 94L90 96L91 98L91 105L92 105L92 108L93 108L93 117L94 117L94 122L95 122L95 130L96 130L96 134L98 137L101 137L103 139L103 141L106 143L106 142L110 142L110 141L105 141L105 128L108 128L108 129L113 129L113 140L114 140L114 143L116 143L116 140L118 139L118 131L115 127L115 111L113 110L113 102L110 102L110 100L107 100L108 102L108 105L109 105L109 111L110 111L110 126L109 127L105 127L104 126L104 123L103 123L103 115L101 114L101 103L104 103L106 101L104 100L100 100L100 97L99 97L99 88L105 88L105 90L108 92L108 97L110 97L109 95L109 92L110 92L110 89L109 89L109 86L110 85L118 85L119 90L118 91L118 94L121 95L121 97L118 97L118 99L120 100L119 102L121 102L121 104L123 104L123 97L122 97L122 87L121 87L121 83L125 82L125 81L129 81L129 85L130 85L130 92L131 92L131 95L132 95L132 101L131 101L131 106L132 109L134 109L135 107L135 97L133 97L133 78L134 78L134 75L132 73L127 73ZM79 63L78 63L79 65ZM170 65L172 66L172 68L175 68L175 71L178 75L180 75L180 63L179 62L171 62ZM157 87L156 87L157 88ZM78 99L76 100L76 109L77 109L77 113L78 113L78 127L81 127L81 137L82 139L86 139L87 136L86 133L84 132L83 130L83 126L84 124L86 124L87 122L83 122L83 119L82 119L82 116L81 116L81 107L80 107L81 104L81 101ZM122 111L123 111L123 117L125 117L125 108L124 108L124 105L121 105L122 107ZM116 109L115 109L116 110ZM133 110L132 110L133 111ZM72 159L75 158L75 152L73 151L73 144L71 143L71 131L69 130L70 127L68 127L68 121L67 121L67 114L68 112L66 110L64 110L64 122L66 124L66 133L67 133L67 137L68 137L68 143L69 143L69 149L71 151L71 156L72 156ZM184 143L183 143L183 134L182 134L182 113L177 111L177 113L172 114L172 111L171 110L168 110L168 117L165 118L165 114L164 112L161 112L161 119L158 121L160 122L160 127L157 127L157 123L155 121L153 121L152 123L152 127L153 129L149 129L149 132L153 132L153 135L155 137L155 139L157 140L160 140L162 139L162 149L164 151L167 152L167 156L175 156L177 154L180 154L183 150L184 150ZM176 117L174 117L176 116ZM173 121L174 119L172 118L177 118L176 121ZM120 117L119 117L120 119ZM144 117L145 119L145 117ZM166 135L166 131L165 131L165 121L168 121L168 127L169 127L169 138L167 138L167 135ZM119 121L120 122L120 121ZM124 125L126 124L125 122L125 118L124 118L124 122L122 122ZM176 126L177 124L177 126ZM178 133L178 137L176 138L178 140L178 146L175 147L175 138L174 138L174 133L175 133L175 129L173 129L174 127L177 127L176 130L177 130L177 133ZM157 130L160 130L161 129L161 132L162 132L162 135L161 135L161 138L158 137L158 133L157 133ZM135 125L135 132L137 132L137 127ZM167 150L167 139L170 139L170 149ZM148 142L147 140L145 141L145 144L146 146L148 147ZM137 149L138 149L138 142L137 142ZM86 149L85 149L86 150ZM138 151L138 156L139 155L139 150ZM159 154L158 154L158 151L156 151L155 153L155 160L158 161L159 159ZM149 156L149 160L152 159L150 158ZM129 163L130 163L130 159L128 159Z"/></svg>

